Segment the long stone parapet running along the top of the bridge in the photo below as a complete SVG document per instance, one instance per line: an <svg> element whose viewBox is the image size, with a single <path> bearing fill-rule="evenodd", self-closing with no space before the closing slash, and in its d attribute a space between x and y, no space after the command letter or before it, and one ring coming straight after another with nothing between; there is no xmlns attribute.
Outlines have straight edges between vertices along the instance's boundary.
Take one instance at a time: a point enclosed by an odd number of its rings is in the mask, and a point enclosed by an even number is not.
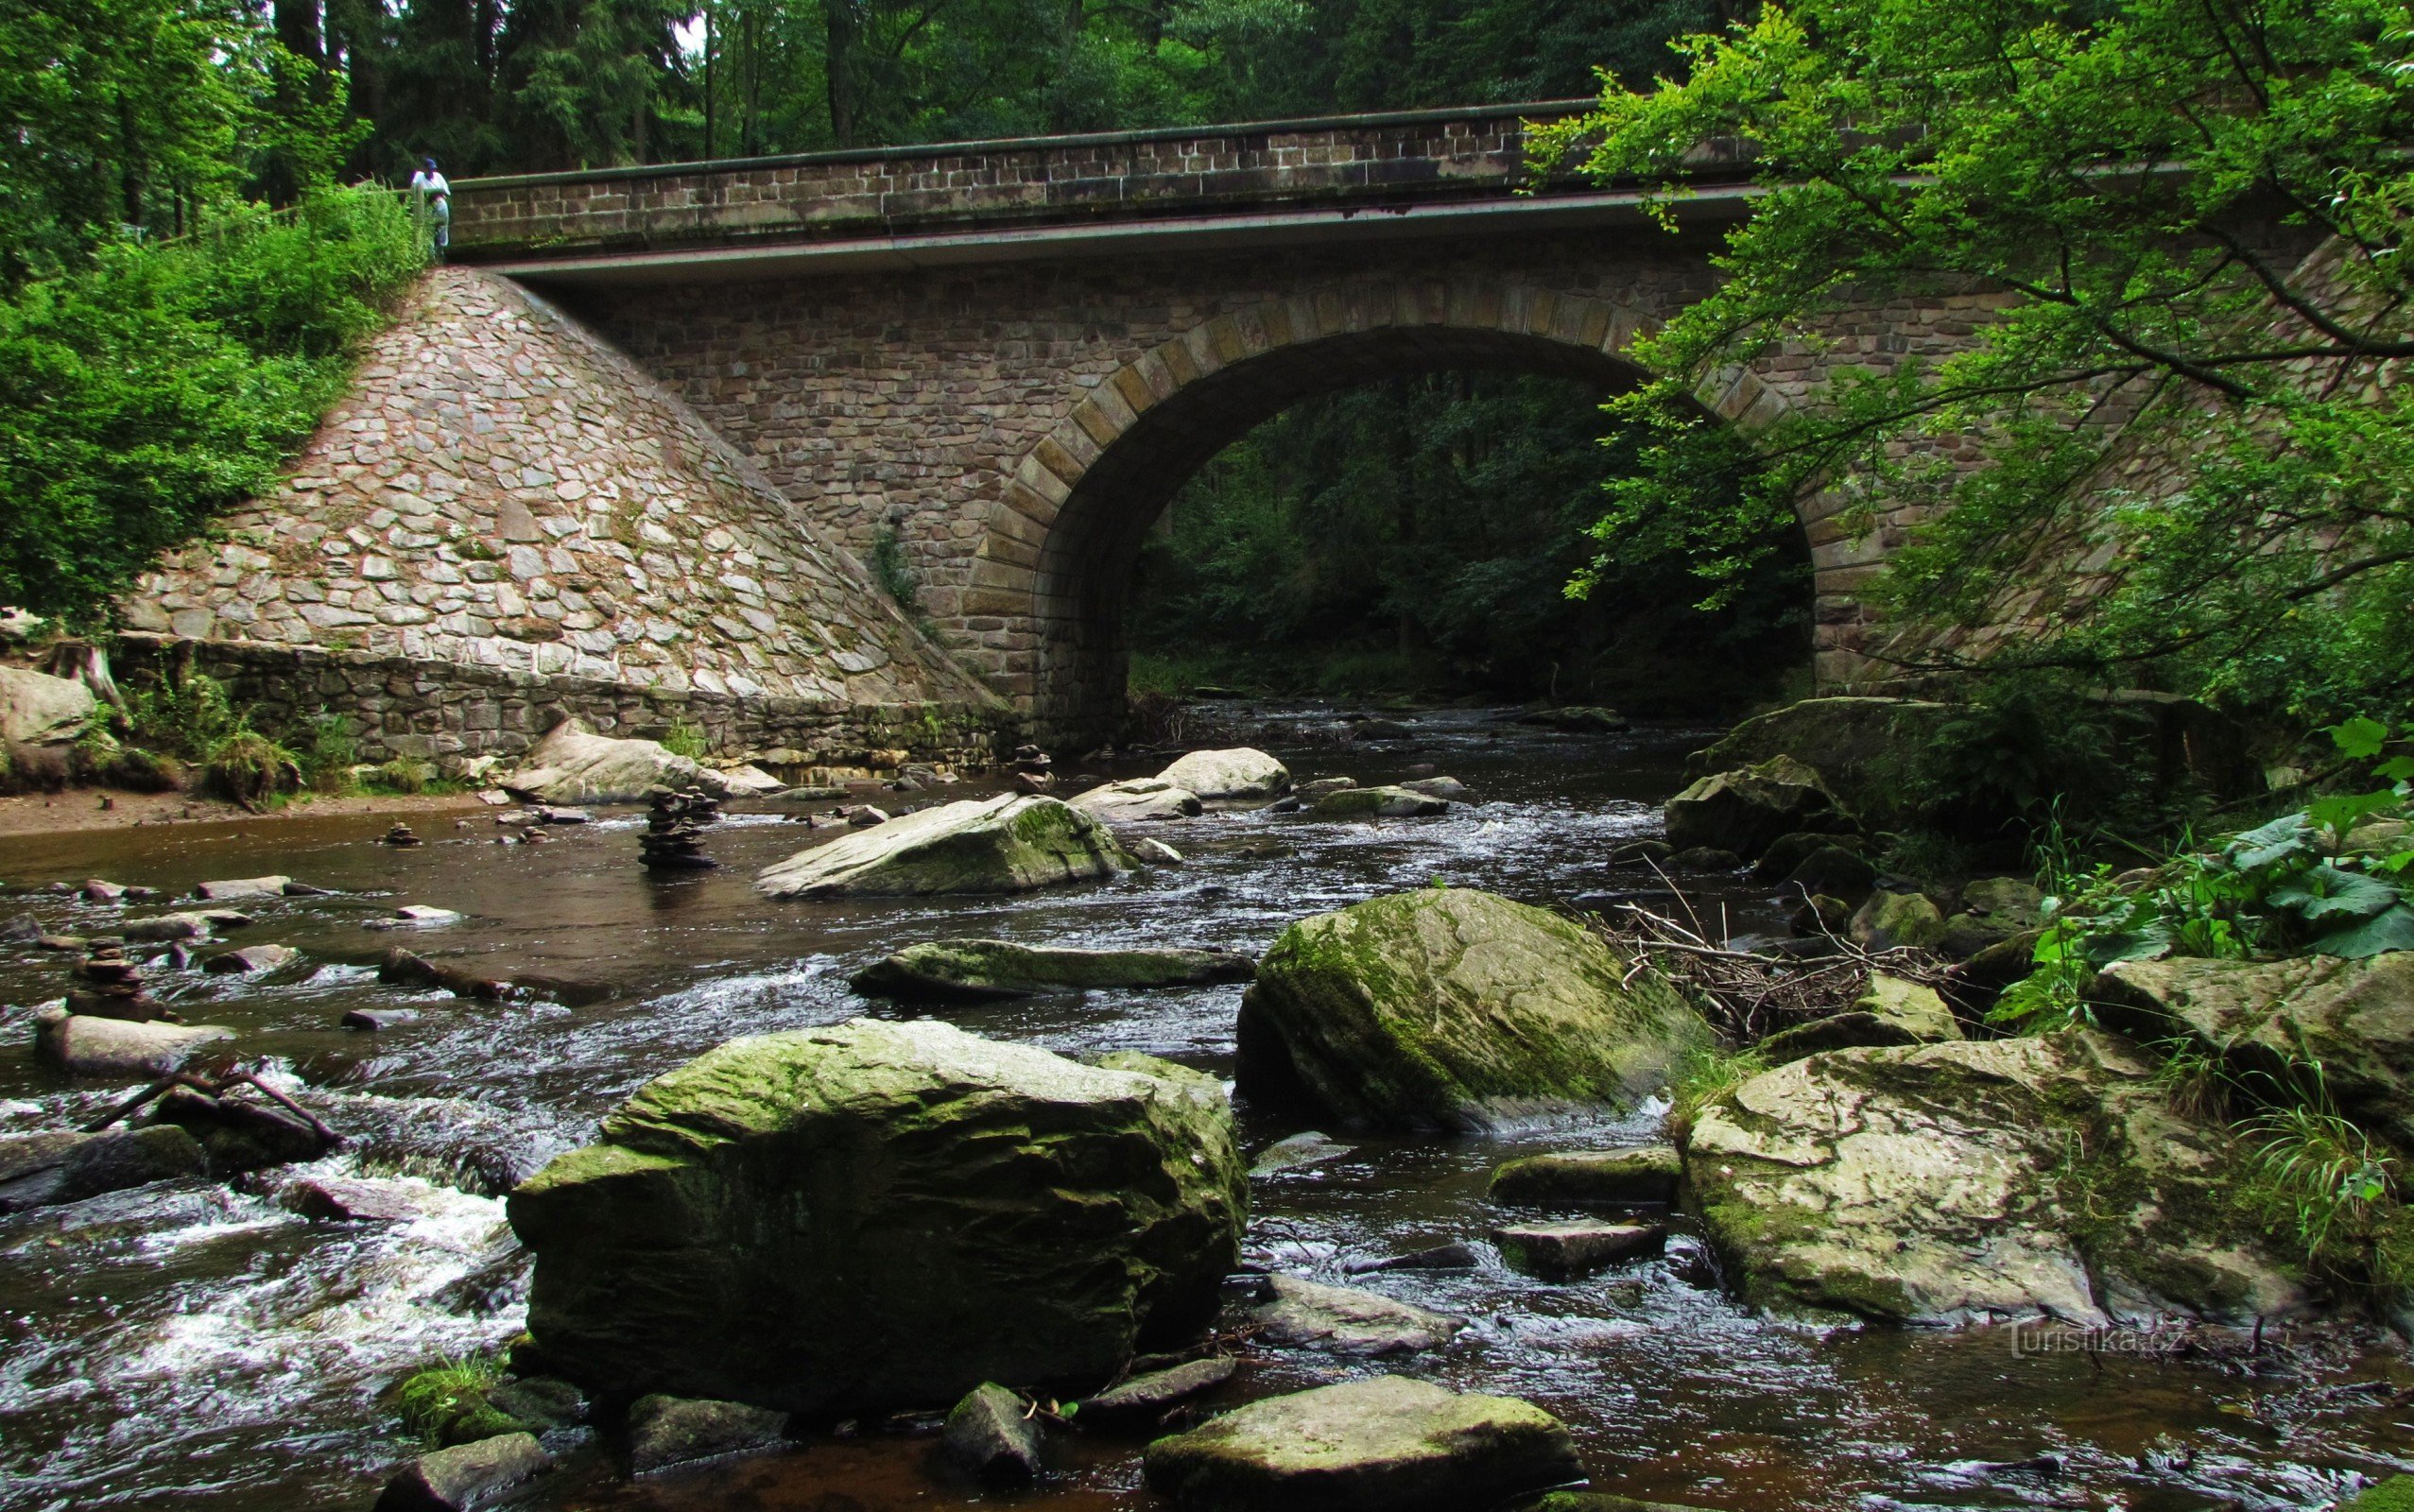
<svg viewBox="0 0 2414 1512"><path fill-rule="evenodd" d="M463 179L454 184L454 256L1499 198L1528 184L1523 123L1588 106L1562 99ZM1569 176L1564 188L1584 186Z"/></svg>

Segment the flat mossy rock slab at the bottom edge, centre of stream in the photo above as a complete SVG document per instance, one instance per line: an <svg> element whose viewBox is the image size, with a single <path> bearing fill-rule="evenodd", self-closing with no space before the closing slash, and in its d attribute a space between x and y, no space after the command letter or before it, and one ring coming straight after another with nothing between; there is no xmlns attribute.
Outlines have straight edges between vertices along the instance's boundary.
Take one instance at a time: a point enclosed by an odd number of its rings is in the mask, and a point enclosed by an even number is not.
<svg viewBox="0 0 2414 1512"><path fill-rule="evenodd" d="M1584 1464L1533 1403L1376 1377L1156 1440L1144 1473L1183 1512L1468 1512L1579 1481Z"/></svg>

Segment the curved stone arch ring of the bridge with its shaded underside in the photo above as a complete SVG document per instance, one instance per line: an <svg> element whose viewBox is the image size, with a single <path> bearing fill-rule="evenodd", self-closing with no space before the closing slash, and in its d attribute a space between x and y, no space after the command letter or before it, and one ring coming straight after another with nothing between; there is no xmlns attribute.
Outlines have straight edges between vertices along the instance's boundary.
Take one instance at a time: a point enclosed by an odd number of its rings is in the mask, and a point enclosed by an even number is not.
<svg viewBox="0 0 2414 1512"><path fill-rule="evenodd" d="M992 684L1045 739L1091 742L1123 715L1123 611L1156 517L1207 459L1284 408L1415 372L1494 367L1625 389L1651 319L1518 283L1361 283L1200 321L1094 382L1014 466L956 626L1002 655ZM1748 370L1697 386L1757 432L1786 408Z"/></svg>

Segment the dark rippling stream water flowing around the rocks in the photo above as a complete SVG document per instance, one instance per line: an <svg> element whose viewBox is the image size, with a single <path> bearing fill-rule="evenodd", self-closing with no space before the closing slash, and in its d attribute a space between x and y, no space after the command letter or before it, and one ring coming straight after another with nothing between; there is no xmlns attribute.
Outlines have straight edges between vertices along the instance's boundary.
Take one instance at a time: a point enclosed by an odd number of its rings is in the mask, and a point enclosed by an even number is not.
<svg viewBox="0 0 2414 1512"><path fill-rule="evenodd" d="M915 940L995 935L1053 944L1197 942L1263 949L1284 923L1432 879L1538 903L1632 886L1603 855L1649 833L1704 732L1567 737L1480 713L1427 715L1417 737L1357 751L1308 744L1325 710L1272 710L1265 744L1301 778L1383 780L1432 761L1480 804L1441 819L1325 824L1209 814L1149 826L1190 862L1024 899L765 903L748 879L804 831L729 816L719 872L676 882L635 865L640 816L608 812L546 845L497 845L488 814L420 821L389 850L379 819L280 819L0 843L12 896L56 932L128 913L41 891L109 877L186 891L287 872L340 889L246 903L246 940L299 947L266 981L154 969L191 1022L241 1031L237 1056L348 1135L316 1167L225 1184L159 1184L0 1217L0 1507L367 1507L413 1452L386 1401L410 1369L512 1338L526 1261L500 1193L587 1140L645 1080L736 1034L898 1012L847 990L864 961ZM1284 739L1279 732L1296 734ZM963 797L949 787L920 797ZM24 894L34 896L24 896ZM1733 932L1779 925L1750 886L1709 894ZM365 927L396 903L468 918L408 935ZM488 976L543 971L601 1000L466 1002L379 985L389 944ZM36 1005L68 956L0 947L0 1133L63 1128L121 1087L70 1087L34 1065ZM1229 1075L1238 988L1089 993L958 1010L966 1029L1055 1051L1149 1051ZM348 1031L350 1007L415 1007L410 1024ZM1299 1133L1241 1104L1250 1150ZM1559 1413L1598 1485L1736 1512L1813 1507L2317 1507L2358 1476L2414 1469L2414 1372L2392 1357L2332 1372L2216 1372L2122 1355L2016 1353L2008 1331L1806 1331L1728 1299L1699 1244L1576 1285L1497 1263L1482 1200L1504 1157L1644 1142L1656 1109L1600 1128L1487 1138L1361 1138L1347 1157L1253 1184L1258 1266L1342 1280L1349 1261L1470 1239L1463 1273L1357 1285L1470 1319L1448 1350L1390 1365ZM1345 1130L1333 1130L1342 1133ZM1345 1135L1347 1138L1347 1135ZM278 1186L309 1174L403 1176L418 1215L307 1222ZM1683 1220L1678 1220L1683 1227ZM1369 1367L1260 1350L1219 1401ZM565 1444L538 1507L886 1512L975 1498L932 1464L932 1435L816 1425L794 1449L628 1483L604 1444ZM1081 1437L1033 1510L1139 1510L1135 1442Z"/></svg>

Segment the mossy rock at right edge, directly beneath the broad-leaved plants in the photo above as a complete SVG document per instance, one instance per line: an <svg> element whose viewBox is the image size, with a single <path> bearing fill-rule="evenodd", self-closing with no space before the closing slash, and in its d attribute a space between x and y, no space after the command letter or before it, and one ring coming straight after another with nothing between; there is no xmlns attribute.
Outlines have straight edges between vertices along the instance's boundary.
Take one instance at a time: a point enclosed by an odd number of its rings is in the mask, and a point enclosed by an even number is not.
<svg viewBox="0 0 2414 1512"><path fill-rule="evenodd" d="M2414 1145L2414 952L2349 961L2119 961L2095 978L2098 1014L2141 1039L2182 1036L2250 1077L2322 1092L2373 1133Z"/></svg>

